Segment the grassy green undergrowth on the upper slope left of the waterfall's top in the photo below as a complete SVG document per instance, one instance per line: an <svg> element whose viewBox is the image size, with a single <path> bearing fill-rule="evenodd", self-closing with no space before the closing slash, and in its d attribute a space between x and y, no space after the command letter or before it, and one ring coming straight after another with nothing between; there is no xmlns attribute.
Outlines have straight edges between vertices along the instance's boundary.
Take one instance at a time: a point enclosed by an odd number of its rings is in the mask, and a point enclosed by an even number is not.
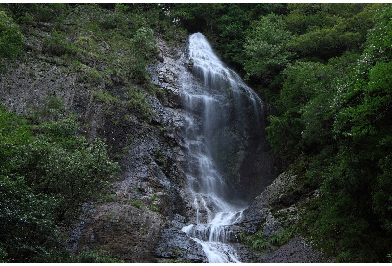
<svg viewBox="0 0 392 266"><path fill-rule="evenodd" d="M24 8L33 12L31 7ZM61 64L64 73L76 74L76 80L104 103L107 114L115 105L151 121L146 94L158 98L164 95L152 84L146 70L159 52L156 32L151 28L158 23L148 24L147 13L123 4L116 4L113 10L103 10L97 4L68 8L72 16L53 23L45 37L36 31L26 34L41 38L45 60L53 58L50 61ZM166 36L174 36L174 28L167 30ZM39 53L37 56L42 57ZM126 90L125 98L114 95L120 88Z"/></svg>

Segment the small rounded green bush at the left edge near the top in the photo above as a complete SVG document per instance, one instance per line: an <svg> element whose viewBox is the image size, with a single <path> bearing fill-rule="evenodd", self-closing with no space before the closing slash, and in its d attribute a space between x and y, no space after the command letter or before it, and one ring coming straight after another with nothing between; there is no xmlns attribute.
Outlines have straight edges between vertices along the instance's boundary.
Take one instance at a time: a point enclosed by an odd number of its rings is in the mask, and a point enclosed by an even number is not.
<svg viewBox="0 0 392 266"><path fill-rule="evenodd" d="M0 11L0 58L15 58L23 52L25 38L11 17Z"/></svg>

